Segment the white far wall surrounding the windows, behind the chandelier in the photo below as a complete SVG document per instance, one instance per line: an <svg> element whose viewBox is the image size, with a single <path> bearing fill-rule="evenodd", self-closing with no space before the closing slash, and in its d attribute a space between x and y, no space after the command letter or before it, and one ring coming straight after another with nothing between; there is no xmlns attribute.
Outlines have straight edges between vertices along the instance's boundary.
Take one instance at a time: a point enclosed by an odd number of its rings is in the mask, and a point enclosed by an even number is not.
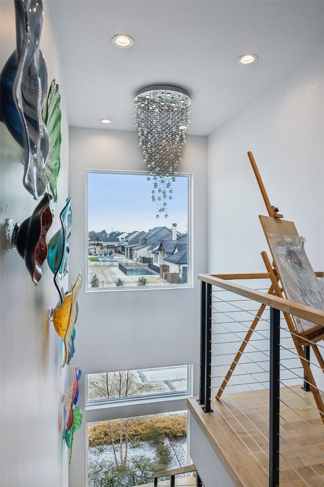
<svg viewBox="0 0 324 487"><path fill-rule="evenodd" d="M143 170L138 135L134 132L70 128L70 194L73 224L69 238L69 279L84 276L76 322L75 362L82 369L78 404L85 404L88 373L193 364L194 393L199 385L200 282L207 270L207 137L188 136L180 172L193 173L193 288L85 291L85 169ZM150 193L150 188L149 188ZM148 197L149 197L148 193ZM123 197L121 194L120 197ZM153 207L152 207L153 211ZM172 222L170 222L172 223ZM74 439L70 487L86 485L86 424L106 417L170 410L170 404L85 411ZM174 405L185 409L185 401Z"/></svg>

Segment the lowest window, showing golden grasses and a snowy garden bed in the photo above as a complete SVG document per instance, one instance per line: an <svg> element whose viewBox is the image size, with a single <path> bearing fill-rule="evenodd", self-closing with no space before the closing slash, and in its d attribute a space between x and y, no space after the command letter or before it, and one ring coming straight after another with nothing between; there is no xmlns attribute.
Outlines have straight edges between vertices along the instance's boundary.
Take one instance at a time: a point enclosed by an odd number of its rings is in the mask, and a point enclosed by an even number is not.
<svg viewBox="0 0 324 487"><path fill-rule="evenodd" d="M88 424L88 487L151 483L187 464L187 411Z"/></svg>

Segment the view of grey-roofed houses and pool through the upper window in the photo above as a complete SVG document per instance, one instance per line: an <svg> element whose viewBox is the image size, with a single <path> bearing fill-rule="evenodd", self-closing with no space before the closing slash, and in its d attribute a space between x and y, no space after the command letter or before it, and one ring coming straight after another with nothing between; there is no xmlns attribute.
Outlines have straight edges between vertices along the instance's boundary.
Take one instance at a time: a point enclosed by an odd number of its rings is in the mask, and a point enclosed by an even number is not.
<svg viewBox="0 0 324 487"><path fill-rule="evenodd" d="M89 287L188 283L188 234L154 227L148 232L89 232Z"/></svg>

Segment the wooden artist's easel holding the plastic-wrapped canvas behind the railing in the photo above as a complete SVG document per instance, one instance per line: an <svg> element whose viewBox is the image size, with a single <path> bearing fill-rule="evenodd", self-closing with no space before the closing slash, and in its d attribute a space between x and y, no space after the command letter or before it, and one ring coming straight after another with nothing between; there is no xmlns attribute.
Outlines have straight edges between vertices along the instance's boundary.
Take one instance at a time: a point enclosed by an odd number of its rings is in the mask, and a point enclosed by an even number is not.
<svg viewBox="0 0 324 487"><path fill-rule="evenodd" d="M295 224L293 222L289 222L286 220L283 220L283 216L278 213L278 208L270 204L269 198L267 196L267 193L265 191L258 167L256 165L255 159L253 157L252 152L248 152L248 157L250 159L253 171L255 173L256 179L259 184L259 188L261 190L261 194L263 196L265 205L267 207L267 211L269 216L259 216L265 237L267 239L269 249L271 251L271 246L269 242L269 234L287 234L287 235L298 235L298 232L296 230ZM272 254L272 251L271 251ZM276 265L274 262L273 258L273 264L271 265L269 258L266 254L266 252L261 252L262 259L264 261L265 267L267 269L267 274L268 277L271 281L271 286L269 288L268 294L272 294L281 298L285 297L285 290L283 289L282 282L280 280L279 273L276 269ZM273 257L273 255L272 255ZM315 272L316 276L323 276L322 272ZM221 277L218 275L218 277ZM232 277L232 279L237 279L236 277ZM280 284L279 284L280 283ZM232 375L232 373L235 370L235 367L241 357L241 355L244 353L244 350L253 334L253 331L255 330L262 314L263 311L265 310L266 305L261 304L244 340L242 341L239 350L222 382L222 385L220 386L217 394L216 394L216 399L220 399L222 393L224 392L225 387L228 384L228 381ZM298 332L294 318L284 312L284 317L288 326L289 331L291 332L293 342L295 344L297 353L299 355L299 358L301 360L302 367L304 369L305 376L307 377L308 384L310 386L310 389L312 391L312 394L314 396L314 400L316 403L316 406L319 410L321 419L324 423L324 404L322 401L322 398L320 396L320 393L318 391L318 388L316 386L316 382L314 379L314 376L312 374L312 371L310 369L310 364L309 361L306 358L306 355L303 350L303 346L305 345L310 345L312 347L312 350L314 352L314 355L318 361L319 366L321 367L322 371L324 372L324 360L321 356L321 353L316 345L316 342L324 338L324 328L318 325L314 325L314 327L310 328L307 331L304 332Z"/></svg>

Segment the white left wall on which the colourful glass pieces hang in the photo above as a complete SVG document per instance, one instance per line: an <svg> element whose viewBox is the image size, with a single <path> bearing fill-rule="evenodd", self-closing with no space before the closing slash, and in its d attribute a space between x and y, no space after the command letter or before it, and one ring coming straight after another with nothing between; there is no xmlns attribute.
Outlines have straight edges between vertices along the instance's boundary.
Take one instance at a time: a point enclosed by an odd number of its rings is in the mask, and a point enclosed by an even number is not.
<svg viewBox="0 0 324 487"><path fill-rule="evenodd" d="M16 47L14 2L1 1L1 68ZM67 197L68 123L61 79L53 4L44 2L41 50L49 82L56 78L62 95L62 169L58 208ZM4 103L4 100L1 100ZM66 487L68 450L61 438L61 339L48 323L48 309L58 294L47 262L38 286L17 251L5 246L5 220L22 222L36 201L22 184L22 151L3 123L1 135L1 480L4 487ZM59 211L57 212L59 214ZM55 218L49 237L59 228Z"/></svg>

